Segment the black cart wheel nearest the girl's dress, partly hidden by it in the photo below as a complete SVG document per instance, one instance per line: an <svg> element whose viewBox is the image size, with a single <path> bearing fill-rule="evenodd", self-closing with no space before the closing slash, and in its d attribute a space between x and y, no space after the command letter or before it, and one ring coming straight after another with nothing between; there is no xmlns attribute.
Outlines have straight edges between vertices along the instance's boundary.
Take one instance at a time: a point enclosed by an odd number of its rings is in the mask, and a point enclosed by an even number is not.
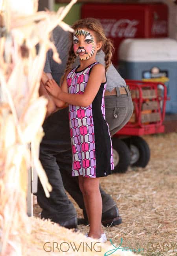
<svg viewBox="0 0 177 256"><path fill-rule="evenodd" d="M112 137L112 147L114 154L113 173L125 173L130 165L130 150L124 141L117 137Z"/></svg>

